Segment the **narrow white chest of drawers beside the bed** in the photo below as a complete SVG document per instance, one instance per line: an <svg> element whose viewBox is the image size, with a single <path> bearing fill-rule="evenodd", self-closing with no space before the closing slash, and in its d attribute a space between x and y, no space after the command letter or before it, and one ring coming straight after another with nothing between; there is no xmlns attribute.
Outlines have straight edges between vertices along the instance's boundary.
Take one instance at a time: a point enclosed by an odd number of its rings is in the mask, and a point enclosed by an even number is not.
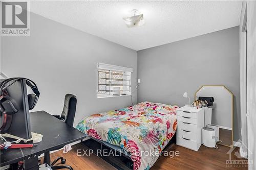
<svg viewBox="0 0 256 170"><path fill-rule="evenodd" d="M177 110L177 141L182 147L198 151L202 144L204 110L184 106Z"/></svg>

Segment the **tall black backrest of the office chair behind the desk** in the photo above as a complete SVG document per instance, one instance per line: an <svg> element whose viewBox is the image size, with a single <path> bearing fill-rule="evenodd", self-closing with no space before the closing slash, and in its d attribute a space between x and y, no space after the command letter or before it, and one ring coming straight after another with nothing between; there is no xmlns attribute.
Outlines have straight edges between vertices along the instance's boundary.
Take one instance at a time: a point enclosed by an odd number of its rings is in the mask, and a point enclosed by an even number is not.
<svg viewBox="0 0 256 170"><path fill-rule="evenodd" d="M76 113L76 96L73 94L66 94L63 111L60 115L61 119L64 120L69 126L73 126L74 117Z"/></svg>

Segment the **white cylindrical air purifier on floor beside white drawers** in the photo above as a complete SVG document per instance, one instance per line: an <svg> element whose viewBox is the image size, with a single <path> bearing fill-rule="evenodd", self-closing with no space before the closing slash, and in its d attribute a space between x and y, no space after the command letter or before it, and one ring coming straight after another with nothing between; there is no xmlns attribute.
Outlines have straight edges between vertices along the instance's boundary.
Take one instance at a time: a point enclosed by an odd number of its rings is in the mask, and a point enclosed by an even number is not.
<svg viewBox="0 0 256 170"><path fill-rule="evenodd" d="M209 148L215 148L216 141L215 141L215 130L211 128L203 128L202 129L202 139L203 145Z"/></svg>

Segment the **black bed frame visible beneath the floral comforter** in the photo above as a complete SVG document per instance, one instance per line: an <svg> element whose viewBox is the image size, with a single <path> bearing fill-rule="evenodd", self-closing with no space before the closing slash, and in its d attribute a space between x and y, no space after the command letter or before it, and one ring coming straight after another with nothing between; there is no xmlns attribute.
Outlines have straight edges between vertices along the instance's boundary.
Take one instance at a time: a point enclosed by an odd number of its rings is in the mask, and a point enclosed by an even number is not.
<svg viewBox="0 0 256 170"><path fill-rule="evenodd" d="M112 144L109 144L108 142L98 140L98 139L94 139L94 138L90 138L88 140L81 141L81 143L83 145L85 145L86 147L88 147L89 149L93 150L93 152L96 153L96 154L99 153L99 152L103 153L103 150L106 153L111 153L111 152L116 153L117 156L114 156L113 154L110 154L110 155L107 154L108 156L98 154L98 156L100 158L102 158L103 160L105 160L106 162L113 165L114 167L116 167L117 169L133 170L133 161L132 161L132 159L130 158L129 155L125 154L125 152L120 152L120 150L121 150L120 147L114 146ZM163 151L167 151L172 146L173 143L176 143L176 133L174 134L172 139L170 139L170 141L165 146ZM117 148L119 148L119 149L117 149Z"/></svg>

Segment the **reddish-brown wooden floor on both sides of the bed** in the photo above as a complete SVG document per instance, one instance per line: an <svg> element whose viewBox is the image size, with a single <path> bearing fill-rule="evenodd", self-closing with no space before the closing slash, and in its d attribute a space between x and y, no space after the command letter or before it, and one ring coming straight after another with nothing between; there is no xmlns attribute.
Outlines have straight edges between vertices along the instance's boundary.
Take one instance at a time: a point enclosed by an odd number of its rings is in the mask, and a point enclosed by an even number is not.
<svg viewBox="0 0 256 170"><path fill-rule="evenodd" d="M229 160L230 150L228 147L218 145L219 149L206 148L201 145L198 152L192 151L176 144L173 144L168 151L179 151L180 156L170 158L161 156L157 162L151 167L151 169L248 169L247 165L243 167L233 166L227 167L226 160ZM89 156L77 156L78 149L87 149L80 143L72 146L72 151L67 154L63 154L62 150L51 154L51 160L59 156L63 156L67 159L66 164L71 165L75 169L116 169L109 163L105 162L101 158L92 154ZM238 158L238 148L235 148L231 153L231 160L246 160Z"/></svg>

